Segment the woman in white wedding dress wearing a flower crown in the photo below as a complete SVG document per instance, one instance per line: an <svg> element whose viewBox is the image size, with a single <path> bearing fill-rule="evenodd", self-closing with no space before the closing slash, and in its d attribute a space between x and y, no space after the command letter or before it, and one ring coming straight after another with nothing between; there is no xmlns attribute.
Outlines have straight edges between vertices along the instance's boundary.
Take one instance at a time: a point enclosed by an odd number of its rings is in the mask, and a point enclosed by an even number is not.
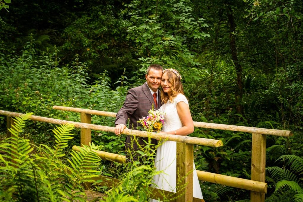
<svg viewBox="0 0 303 202"><path fill-rule="evenodd" d="M194 123L188 106L188 101L183 92L181 84L181 75L175 69L165 69L161 79L161 99L160 108L164 114L165 124L163 132L174 135L188 135L194 131ZM155 167L158 171L163 171L153 177L152 187L158 189L176 192L176 150L177 143L174 141L165 141L157 149L155 158ZM195 171L194 164L193 175L193 197L203 199L202 192ZM151 199L150 202L158 200Z"/></svg>

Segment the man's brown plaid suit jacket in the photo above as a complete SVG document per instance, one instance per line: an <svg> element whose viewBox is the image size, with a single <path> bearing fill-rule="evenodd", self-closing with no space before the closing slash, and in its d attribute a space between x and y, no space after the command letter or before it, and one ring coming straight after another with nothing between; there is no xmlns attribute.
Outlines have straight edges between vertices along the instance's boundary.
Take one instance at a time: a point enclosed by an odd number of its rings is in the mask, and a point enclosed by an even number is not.
<svg viewBox="0 0 303 202"><path fill-rule="evenodd" d="M122 108L118 111L116 115L115 125L117 124L127 124L129 118L129 129L137 130L136 127L142 126L137 123L140 118L146 117L148 111L152 108L152 104L155 106L155 102L153 96L151 95L151 91L148 88L148 85L144 83L142 86L138 86L136 88L132 88L127 92L125 102ZM161 99L160 99L160 91L158 91L158 106L155 109L159 109L161 107ZM148 142L148 138L146 137L136 137L138 143L142 146L145 145L144 141ZM131 149L131 137L128 135L125 140L125 150ZM156 144L156 140L152 139L152 144ZM134 151L138 150L138 145L134 143L132 145L132 149ZM129 154L126 152L126 157L129 157ZM133 157L134 160L137 160Z"/></svg>

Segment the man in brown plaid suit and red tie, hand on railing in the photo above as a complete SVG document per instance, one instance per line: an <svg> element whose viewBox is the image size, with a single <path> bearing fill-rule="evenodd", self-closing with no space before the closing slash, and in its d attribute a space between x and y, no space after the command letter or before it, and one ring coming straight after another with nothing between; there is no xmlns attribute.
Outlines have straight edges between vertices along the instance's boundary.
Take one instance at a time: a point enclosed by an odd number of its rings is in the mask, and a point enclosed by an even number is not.
<svg viewBox="0 0 303 202"><path fill-rule="evenodd" d="M148 111L152 108L152 104L156 109L161 107L160 91L158 88L161 84L163 68L160 65L152 64L148 67L145 75L146 82L142 86L132 88L127 92L125 102L122 108L118 111L115 121L115 134L120 135L129 118L129 129L136 130L137 126L141 126L137 121L140 118L146 117ZM126 161L138 161L139 150L138 145L131 135L127 135L125 140ZM147 137L136 137L138 143L144 147L148 142ZM131 145L131 143L133 143ZM155 139L151 139L152 144L156 144ZM135 154L130 159L128 150L133 150Z"/></svg>

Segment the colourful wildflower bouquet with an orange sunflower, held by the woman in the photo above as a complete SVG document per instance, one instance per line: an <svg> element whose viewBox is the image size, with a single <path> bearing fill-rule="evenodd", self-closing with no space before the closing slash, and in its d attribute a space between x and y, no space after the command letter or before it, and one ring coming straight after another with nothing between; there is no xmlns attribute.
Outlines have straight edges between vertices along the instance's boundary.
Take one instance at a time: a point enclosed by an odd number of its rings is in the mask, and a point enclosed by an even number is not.
<svg viewBox="0 0 303 202"><path fill-rule="evenodd" d="M147 117L142 117L137 122L142 124L142 127L137 127L137 129L143 129L148 132L161 131L164 125L164 114L162 111L154 110L154 105L152 105Z"/></svg>

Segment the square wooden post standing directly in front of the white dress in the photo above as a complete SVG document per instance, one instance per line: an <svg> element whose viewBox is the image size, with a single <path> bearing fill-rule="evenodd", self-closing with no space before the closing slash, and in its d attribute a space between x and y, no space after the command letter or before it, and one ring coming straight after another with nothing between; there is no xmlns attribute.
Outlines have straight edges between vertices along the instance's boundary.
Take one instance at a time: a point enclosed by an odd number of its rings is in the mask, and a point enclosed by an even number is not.
<svg viewBox="0 0 303 202"><path fill-rule="evenodd" d="M193 201L194 145L177 142L176 202Z"/></svg>

